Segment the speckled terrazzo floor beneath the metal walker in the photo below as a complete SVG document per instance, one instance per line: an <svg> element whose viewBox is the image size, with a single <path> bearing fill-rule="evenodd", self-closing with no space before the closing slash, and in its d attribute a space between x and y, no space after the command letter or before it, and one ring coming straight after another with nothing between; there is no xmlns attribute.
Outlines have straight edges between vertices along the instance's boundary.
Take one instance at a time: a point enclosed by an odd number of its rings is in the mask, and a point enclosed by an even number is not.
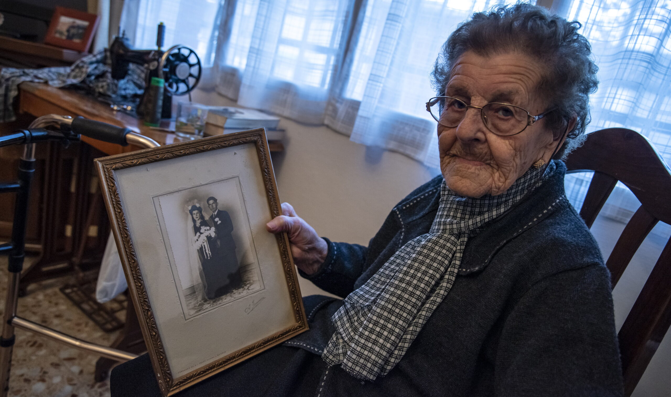
<svg viewBox="0 0 671 397"><path fill-rule="evenodd" d="M28 296L19 298L17 313L47 327L85 341L109 345L119 331L105 333L89 320L59 290L66 279L34 284ZM7 290L7 258L0 258L0 304ZM4 306L0 307L0 311ZM9 396L103 397L109 382L95 383L93 371L98 356L17 329Z"/></svg>

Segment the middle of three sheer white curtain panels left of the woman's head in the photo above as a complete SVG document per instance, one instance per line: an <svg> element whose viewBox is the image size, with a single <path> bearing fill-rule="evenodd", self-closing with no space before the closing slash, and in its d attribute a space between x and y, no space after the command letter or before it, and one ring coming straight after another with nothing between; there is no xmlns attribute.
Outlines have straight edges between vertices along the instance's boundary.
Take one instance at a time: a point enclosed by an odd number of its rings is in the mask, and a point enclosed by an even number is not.
<svg viewBox="0 0 671 397"><path fill-rule="evenodd" d="M353 1L238 0L224 6L219 93L242 106L323 124Z"/></svg>

